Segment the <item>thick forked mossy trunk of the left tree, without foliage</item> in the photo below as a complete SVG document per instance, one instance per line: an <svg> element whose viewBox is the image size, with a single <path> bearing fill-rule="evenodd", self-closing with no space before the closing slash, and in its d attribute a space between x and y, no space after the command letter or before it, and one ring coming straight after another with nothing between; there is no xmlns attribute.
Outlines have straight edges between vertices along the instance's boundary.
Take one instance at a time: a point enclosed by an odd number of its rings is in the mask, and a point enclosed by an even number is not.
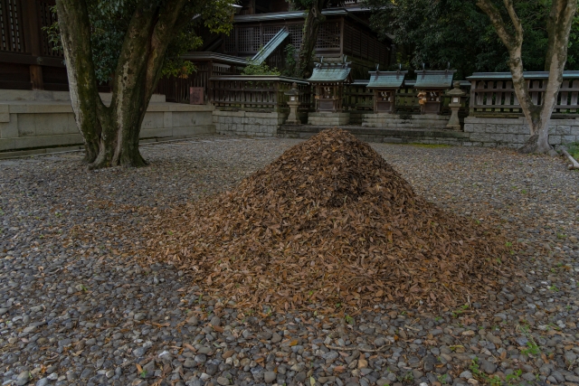
<svg viewBox="0 0 579 386"><path fill-rule="evenodd" d="M85 0L57 0L71 104L85 141L90 169L143 166L138 150L140 127L160 78L166 48L191 15L181 14L188 0L168 0L160 13L143 0L133 14L112 80L109 106L100 99L90 45Z"/></svg>

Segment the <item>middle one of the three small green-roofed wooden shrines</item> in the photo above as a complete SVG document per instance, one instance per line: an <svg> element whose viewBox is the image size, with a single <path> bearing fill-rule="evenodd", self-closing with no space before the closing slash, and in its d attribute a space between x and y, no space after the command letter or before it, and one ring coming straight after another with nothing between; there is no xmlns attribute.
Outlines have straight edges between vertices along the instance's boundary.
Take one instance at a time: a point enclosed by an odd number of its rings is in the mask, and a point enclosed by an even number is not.
<svg viewBox="0 0 579 386"><path fill-rule="evenodd" d="M374 89L374 112L394 114L396 110L396 90L402 88L408 71L370 71L370 81L366 89Z"/></svg>

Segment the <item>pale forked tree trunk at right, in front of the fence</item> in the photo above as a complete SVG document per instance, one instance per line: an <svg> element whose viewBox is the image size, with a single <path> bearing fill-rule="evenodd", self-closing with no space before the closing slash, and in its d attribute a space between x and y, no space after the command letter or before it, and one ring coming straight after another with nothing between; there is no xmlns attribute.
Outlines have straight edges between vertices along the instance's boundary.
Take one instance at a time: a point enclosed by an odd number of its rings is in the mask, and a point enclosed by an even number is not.
<svg viewBox="0 0 579 386"><path fill-rule="evenodd" d="M530 137L519 151L547 153L552 150L548 142L549 120L563 82L569 34L577 11L577 0L550 0L551 9L546 24L548 45L545 62L545 70L549 72L549 76L540 105L536 105L531 99L528 83L523 73L525 67L521 53L524 31L514 0L502 0L502 6L496 5L495 1L478 0L477 5L489 15L498 37L508 50L508 67L513 77L513 87L530 128Z"/></svg>

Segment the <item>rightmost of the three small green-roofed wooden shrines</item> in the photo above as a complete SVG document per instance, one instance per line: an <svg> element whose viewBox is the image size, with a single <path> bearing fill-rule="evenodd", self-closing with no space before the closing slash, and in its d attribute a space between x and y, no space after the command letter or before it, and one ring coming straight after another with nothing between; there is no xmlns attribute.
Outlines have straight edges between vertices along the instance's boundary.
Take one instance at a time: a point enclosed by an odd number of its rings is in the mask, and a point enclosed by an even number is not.
<svg viewBox="0 0 579 386"><path fill-rule="evenodd" d="M444 91L452 88L456 70L417 71L414 89L418 90L418 103L422 114L440 114Z"/></svg>

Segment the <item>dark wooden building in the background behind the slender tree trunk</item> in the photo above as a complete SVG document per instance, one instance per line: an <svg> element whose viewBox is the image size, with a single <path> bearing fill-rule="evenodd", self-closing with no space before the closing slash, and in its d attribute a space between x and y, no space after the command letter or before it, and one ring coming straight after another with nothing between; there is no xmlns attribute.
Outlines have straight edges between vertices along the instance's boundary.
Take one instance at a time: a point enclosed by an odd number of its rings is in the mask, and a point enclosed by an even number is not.
<svg viewBox="0 0 579 386"><path fill-rule="evenodd" d="M352 61L352 75L356 79L367 78L367 71L376 64L387 68L394 61L393 42L378 40L368 24L369 10L356 1L330 2L322 14L326 22L318 32L315 51L318 58L339 61L346 55ZM284 45L292 44L299 51L304 17L303 11L290 11L285 0L243 0L241 11L234 17L233 32L223 36L219 48L213 48L224 54L251 58L285 28L289 38ZM284 55L277 55L268 64L283 68L284 61Z"/></svg>

